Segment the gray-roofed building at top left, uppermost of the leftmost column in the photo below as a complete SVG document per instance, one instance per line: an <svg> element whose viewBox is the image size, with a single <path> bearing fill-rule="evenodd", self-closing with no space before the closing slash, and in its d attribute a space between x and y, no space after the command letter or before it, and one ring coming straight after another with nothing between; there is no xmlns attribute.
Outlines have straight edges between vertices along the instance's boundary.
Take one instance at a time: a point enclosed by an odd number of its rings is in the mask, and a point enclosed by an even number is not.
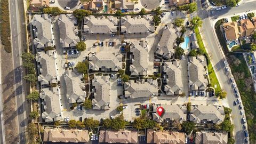
<svg viewBox="0 0 256 144"><path fill-rule="evenodd" d="M53 46L53 35L51 19L48 14L35 14L31 24L35 27L34 44L36 48L43 48L47 46Z"/></svg>

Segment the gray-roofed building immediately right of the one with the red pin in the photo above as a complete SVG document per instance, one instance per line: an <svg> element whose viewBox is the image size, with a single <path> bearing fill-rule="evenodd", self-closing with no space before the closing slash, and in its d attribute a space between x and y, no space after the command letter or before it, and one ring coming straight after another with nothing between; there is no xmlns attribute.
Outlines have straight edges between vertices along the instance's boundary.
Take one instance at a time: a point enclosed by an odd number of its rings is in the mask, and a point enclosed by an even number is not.
<svg viewBox="0 0 256 144"><path fill-rule="evenodd" d="M191 106L189 121L195 123L213 122L220 124L224 121L225 113L223 106L215 105L194 105Z"/></svg>

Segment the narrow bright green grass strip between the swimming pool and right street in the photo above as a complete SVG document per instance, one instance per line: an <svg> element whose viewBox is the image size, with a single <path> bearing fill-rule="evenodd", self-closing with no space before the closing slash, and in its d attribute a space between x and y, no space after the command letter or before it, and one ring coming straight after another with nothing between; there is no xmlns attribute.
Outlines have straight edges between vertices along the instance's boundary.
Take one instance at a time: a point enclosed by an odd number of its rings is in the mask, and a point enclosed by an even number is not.
<svg viewBox="0 0 256 144"><path fill-rule="evenodd" d="M214 87L215 85L217 85L217 87L215 88L215 93L218 94L221 92L221 87L220 87L220 84L219 84L219 81L218 81L218 78L213 70L213 67L212 67L212 63L210 62L209 60L209 56L205 50L205 47L204 47L204 43L202 41L202 37L199 33L199 29L198 28L195 28L195 33L196 33L196 39L197 39L197 43L199 45L199 49L206 55L207 57L207 69L208 69L208 74L209 74L209 78L210 78L210 82L211 82L211 86Z"/></svg>

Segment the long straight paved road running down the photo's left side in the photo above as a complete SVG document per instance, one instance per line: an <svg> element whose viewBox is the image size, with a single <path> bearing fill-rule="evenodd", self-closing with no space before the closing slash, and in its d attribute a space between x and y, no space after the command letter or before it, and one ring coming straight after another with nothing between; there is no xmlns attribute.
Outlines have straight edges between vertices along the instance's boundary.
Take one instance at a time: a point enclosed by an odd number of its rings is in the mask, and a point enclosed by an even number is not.
<svg viewBox="0 0 256 144"><path fill-rule="evenodd" d="M12 52L14 63L14 79L15 79L15 95L17 103L18 114L18 130L19 130L19 143L25 143L25 129L26 129L26 100L23 85L26 83L22 81L22 61L21 53L26 46L25 39L25 22L23 15L23 2L22 1L9 1L10 3L10 23L11 23L11 35L12 35Z"/></svg>

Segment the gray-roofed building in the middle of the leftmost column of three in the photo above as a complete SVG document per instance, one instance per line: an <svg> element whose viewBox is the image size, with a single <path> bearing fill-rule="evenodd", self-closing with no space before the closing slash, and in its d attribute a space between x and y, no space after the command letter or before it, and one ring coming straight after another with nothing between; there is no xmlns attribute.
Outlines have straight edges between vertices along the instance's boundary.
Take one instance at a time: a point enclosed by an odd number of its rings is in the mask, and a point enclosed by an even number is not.
<svg viewBox="0 0 256 144"><path fill-rule="evenodd" d="M55 52L53 50L50 51L41 51L37 52L36 61L39 63L37 66L40 73L38 81L41 82L41 85L57 83L57 71L55 65Z"/></svg>

